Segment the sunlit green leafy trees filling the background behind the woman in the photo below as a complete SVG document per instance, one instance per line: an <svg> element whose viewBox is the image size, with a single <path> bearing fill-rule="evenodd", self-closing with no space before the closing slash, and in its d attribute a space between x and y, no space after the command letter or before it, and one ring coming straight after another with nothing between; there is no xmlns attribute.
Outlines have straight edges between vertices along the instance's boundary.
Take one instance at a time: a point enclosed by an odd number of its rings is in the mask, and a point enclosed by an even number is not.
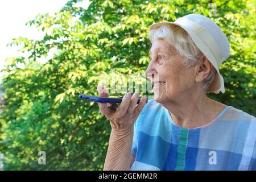
<svg viewBox="0 0 256 182"><path fill-rule="evenodd" d="M254 1L107 0L92 1L86 10L77 2L27 23L45 33L42 40L18 37L10 43L30 57L9 57L2 71L4 170L102 169L110 125L97 104L78 100L78 94L96 95L98 75L112 68L143 73L150 61L149 26L190 13L214 20L231 44L220 69L226 92L209 97L256 115ZM51 48L57 53L39 63ZM38 164L39 151L46 151L46 165Z"/></svg>

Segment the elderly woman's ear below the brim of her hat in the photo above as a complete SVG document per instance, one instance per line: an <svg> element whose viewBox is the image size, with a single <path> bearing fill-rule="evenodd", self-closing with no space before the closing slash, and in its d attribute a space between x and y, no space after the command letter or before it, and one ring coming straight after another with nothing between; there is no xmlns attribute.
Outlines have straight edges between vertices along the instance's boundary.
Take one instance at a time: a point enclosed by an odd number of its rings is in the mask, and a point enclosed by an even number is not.
<svg viewBox="0 0 256 182"><path fill-rule="evenodd" d="M196 72L196 82L201 82L206 78L210 71L212 70L212 64L210 61L205 57L205 55L202 55L200 58L199 65L197 67L197 72Z"/></svg>

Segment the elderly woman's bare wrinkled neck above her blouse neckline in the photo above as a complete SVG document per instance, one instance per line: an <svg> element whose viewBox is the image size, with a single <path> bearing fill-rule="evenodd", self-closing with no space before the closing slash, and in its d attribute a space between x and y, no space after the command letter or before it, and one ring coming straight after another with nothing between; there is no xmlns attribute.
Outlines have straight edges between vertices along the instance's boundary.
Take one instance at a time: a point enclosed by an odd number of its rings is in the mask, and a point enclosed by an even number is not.
<svg viewBox="0 0 256 182"><path fill-rule="evenodd" d="M226 105L208 98L205 93L176 98L163 104L175 125L192 129L213 121Z"/></svg>

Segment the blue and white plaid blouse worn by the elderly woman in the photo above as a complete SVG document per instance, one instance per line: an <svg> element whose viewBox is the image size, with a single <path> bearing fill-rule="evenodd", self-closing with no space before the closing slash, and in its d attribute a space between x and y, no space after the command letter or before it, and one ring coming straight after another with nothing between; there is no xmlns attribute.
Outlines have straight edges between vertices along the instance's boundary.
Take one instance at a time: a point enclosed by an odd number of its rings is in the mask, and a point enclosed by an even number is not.
<svg viewBox="0 0 256 182"><path fill-rule="evenodd" d="M148 101L134 123L131 170L256 170L256 118L227 106L207 126L176 126Z"/></svg>

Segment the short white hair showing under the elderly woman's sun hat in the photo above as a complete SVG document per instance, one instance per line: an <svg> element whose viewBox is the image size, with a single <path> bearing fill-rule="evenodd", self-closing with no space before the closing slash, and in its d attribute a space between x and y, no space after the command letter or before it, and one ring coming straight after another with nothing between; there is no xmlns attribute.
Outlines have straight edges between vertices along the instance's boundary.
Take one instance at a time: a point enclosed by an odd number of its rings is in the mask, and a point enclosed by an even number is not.
<svg viewBox="0 0 256 182"><path fill-rule="evenodd" d="M181 27L175 24L162 25L157 29L149 32L150 42L153 43L156 39L164 39L173 46L177 53L183 56L184 64L191 67L199 63L203 53L197 48L189 34ZM209 89L210 85L216 77L216 69L212 67L212 71L203 81L203 89L205 92Z"/></svg>

